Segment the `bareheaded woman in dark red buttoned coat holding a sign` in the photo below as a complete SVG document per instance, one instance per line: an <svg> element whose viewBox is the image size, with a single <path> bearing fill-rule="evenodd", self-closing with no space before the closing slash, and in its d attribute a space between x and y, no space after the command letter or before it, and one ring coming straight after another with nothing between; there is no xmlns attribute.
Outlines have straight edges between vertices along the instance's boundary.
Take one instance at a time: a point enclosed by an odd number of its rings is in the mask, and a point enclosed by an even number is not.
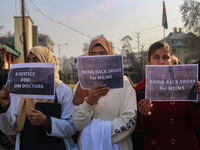
<svg viewBox="0 0 200 150"><path fill-rule="evenodd" d="M172 63L172 50L166 42L158 41L150 46L148 65ZM134 150L199 150L194 129L200 129L200 82L195 85L198 102L152 102L144 99L145 81L146 78L135 87L138 101L135 131L143 135L143 144Z"/></svg>

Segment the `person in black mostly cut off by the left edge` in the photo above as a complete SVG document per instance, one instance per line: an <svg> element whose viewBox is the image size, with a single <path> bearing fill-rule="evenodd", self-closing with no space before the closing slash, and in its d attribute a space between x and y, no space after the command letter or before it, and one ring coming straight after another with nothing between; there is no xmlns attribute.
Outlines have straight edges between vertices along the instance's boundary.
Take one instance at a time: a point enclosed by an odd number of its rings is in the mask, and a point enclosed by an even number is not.
<svg viewBox="0 0 200 150"><path fill-rule="evenodd" d="M7 78L8 78L8 71L3 69L4 65L4 57L3 54L0 52L0 90L2 89L3 85L6 85ZM5 135L0 130L0 150L12 150L14 149L14 142L15 136L8 136Z"/></svg>

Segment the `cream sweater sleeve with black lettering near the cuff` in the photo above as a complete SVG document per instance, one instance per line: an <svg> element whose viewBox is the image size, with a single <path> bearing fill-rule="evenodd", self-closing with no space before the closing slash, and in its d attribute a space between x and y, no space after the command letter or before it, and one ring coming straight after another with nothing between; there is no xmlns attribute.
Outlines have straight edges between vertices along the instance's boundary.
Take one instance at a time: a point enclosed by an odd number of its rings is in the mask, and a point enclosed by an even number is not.
<svg viewBox="0 0 200 150"><path fill-rule="evenodd" d="M136 127L136 93L129 81L126 81L124 86L124 97L120 108L120 115L111 124L113 143L117 143L127 137Z"/></svg>

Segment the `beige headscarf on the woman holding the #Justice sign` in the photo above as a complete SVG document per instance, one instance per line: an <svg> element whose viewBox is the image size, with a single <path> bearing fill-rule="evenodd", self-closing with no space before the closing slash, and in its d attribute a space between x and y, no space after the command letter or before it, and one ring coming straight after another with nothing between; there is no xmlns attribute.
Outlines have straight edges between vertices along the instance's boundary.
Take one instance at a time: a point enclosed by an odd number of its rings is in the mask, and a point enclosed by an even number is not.
<svg viewBox="0 0 200 150"><path fill-rule="evenodd" d="M36 55L42 63L55 63L55 88L59 83L59 73L58 73L58 64L56 57L53 53L44 46L35 46L28 51L27 56L33 53ZM31 113L30 109L35 107L37 102L50 102L52 99L35 99L35 98L21 98L18 106L18 115L17 115L17 128L16 132L21 132L24 128L24 123L26 120L26 115Z"/></svg>

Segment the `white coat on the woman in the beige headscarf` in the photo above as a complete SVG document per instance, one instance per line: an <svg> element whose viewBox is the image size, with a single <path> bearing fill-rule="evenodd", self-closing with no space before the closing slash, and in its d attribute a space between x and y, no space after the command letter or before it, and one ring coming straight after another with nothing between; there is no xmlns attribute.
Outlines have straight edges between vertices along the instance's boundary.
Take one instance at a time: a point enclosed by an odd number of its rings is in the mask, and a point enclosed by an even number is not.
<svg viewBox="0 0 200 150"><path fill-rule="evenodd" d="M66 149L77 148L71 136L75 134L75 128L72 121L73 95L69 87L63 83L59 83L57 89L58 103L61 104L61 118L51 117L51 132L48 136L63 138ZM7 112L0 114L0 129L8 134L13 135L16 128L16 118L18 113L18 105L20 97L11 97L11 105ZM19 134L18 134L19 135ZM16 149L19 149L20 137L16 139Z"/></svg>

